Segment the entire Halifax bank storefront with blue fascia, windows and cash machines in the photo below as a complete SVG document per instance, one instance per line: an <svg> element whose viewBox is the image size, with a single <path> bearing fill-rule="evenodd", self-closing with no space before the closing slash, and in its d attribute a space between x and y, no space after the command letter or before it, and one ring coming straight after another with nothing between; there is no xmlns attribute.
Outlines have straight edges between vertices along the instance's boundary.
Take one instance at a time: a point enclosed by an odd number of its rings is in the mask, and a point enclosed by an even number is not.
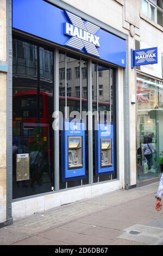
<svg viewBox="0 0 163 256"><path fill-rule="evenodd" d="M129 185L127 35L58 0L10 8L12 216L24 202L21 217Z"/></svg>

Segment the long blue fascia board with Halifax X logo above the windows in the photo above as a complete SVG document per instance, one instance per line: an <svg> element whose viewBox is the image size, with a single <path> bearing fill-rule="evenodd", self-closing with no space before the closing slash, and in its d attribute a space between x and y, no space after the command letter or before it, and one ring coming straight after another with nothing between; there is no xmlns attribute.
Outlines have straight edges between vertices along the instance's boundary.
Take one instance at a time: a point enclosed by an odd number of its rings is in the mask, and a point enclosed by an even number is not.
<svg viewBox="0 0 163 256"><path fill-rule="evenodd" d="M126 67L126 40L43 0L12 0L12 27Z"/></svg>

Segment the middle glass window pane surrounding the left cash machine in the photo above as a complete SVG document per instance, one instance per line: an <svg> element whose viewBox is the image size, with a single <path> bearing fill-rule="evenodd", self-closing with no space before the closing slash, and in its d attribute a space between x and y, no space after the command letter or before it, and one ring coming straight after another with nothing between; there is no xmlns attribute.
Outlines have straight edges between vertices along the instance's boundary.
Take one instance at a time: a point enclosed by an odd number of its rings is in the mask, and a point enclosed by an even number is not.
<svg viewBox="0 0 163 256"><path fill-rule="evenodd" d="M66 53L59 52L59 70L65 72L65 69L71 70L71 80L67 76L63 76L59 81L59 106L63 117L69 118L73 111L79 112L79 117L82 118L82 111L87 111L87 61L82 58ZM82 77L80 75L82 74ZM84 99L85 98L85 99ZM68 107L68 108L67 108ZM87 132L86 132L86 144ZM86 147L87 150L87 147ZM88 168L86 155L86 179L74 180L68 182L61 181L61 131L60 131L60 189L74 186L81 186L88 183Z"/></svg>

